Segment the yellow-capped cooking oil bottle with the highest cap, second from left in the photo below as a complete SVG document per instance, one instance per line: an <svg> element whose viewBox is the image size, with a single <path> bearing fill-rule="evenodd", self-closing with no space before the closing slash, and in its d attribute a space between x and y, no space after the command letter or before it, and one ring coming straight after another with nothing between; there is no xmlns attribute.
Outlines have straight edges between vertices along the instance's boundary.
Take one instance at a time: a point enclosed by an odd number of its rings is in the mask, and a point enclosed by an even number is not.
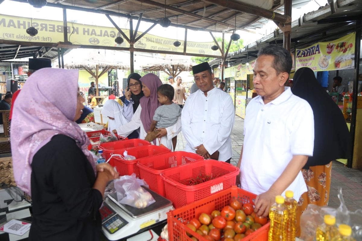
<svg viewBox="0 0 362 241"><path fill-rule="evenodd" d="M298 206L298 202L293 198L293 191L285 192L285 206L288 208L288 222L286 228L286 241L295 241L295 231L296 231L296 208Z"/></svg>

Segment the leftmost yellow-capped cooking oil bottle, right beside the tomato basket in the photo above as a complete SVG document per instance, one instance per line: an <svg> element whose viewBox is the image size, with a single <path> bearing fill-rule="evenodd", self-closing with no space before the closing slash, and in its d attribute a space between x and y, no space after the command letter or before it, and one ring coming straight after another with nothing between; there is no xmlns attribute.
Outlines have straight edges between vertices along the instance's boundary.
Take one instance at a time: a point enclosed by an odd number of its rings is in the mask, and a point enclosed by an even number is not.
<svg viewBox="0 0 362 241"><path fill-rule="evenodd" d="M288 222L288 208L284 204L283 196L276 196L275 203L270 207L269 241L285 241Z"/></svg>

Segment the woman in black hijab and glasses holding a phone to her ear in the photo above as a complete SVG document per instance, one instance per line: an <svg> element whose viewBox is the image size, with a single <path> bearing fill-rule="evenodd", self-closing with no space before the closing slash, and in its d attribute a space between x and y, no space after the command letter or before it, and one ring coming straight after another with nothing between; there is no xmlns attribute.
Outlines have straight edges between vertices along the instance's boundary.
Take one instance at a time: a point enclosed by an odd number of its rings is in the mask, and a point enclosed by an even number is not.
<svg viewBox="0 0 362 241"><path fill-rule="evenodd" d="M119 98L123 102L123 106L128 106L132 103L133 113L139 106L139 100L143 97L141 76L137 73L131 73L127 78L127 90L125 95ZM119 102L119 100L118 100ZM137 130L128 135L128 139L138 138Z"/></svg>

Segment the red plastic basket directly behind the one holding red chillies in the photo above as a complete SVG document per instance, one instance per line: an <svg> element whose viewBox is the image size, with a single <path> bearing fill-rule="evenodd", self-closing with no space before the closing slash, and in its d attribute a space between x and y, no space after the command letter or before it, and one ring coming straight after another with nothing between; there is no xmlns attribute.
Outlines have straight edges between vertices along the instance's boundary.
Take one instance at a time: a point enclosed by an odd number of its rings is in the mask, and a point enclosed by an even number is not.
<svg viewBox="0 0 362 241"><path fill-rule="evenodd" d="M152 191L166 197L165 184L161 178L161 173L173 167L177 167L186 163L203 160L200 155L175 151L169 152L149 158L143 158L138 161L140 178L145 180Z"/></svg>

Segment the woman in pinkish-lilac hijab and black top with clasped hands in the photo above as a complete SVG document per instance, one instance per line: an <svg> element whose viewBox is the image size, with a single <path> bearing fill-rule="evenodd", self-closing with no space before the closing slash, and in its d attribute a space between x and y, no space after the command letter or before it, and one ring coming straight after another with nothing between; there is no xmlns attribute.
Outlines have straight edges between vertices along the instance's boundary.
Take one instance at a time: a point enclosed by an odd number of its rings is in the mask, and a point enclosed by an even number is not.
<svg viewBox="0 0 362 241"><path fill-rule="evenodd" d="M17 97L11 150L15 181L33 201L30 241L99 240L104 189L118 175L87 149L75 122L83 102L78 70L40 69Z"/></svg>

